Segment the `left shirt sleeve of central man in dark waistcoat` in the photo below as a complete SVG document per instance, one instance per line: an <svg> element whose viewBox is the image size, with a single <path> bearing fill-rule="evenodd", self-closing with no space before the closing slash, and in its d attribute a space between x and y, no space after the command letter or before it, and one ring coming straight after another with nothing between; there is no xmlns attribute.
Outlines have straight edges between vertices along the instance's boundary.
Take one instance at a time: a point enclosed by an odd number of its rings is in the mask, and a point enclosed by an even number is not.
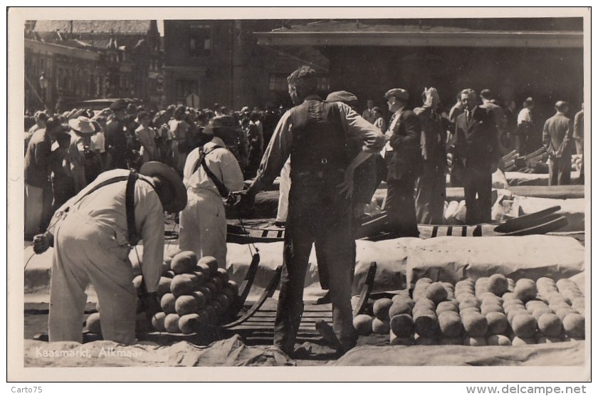
<svg viewBox="0 0 598 396"><path fill-rule="evenodd" d="M366 122L364 120L364 122ZM372 125L373 126L373 125ZM268 147L263 154L256 179L248 189L248 194L257 194L266 187L271 186L274 179L280 174L283 165L290 155L290 148L293 145L291 133L290 112L286 112L278 121Z"/></svg>

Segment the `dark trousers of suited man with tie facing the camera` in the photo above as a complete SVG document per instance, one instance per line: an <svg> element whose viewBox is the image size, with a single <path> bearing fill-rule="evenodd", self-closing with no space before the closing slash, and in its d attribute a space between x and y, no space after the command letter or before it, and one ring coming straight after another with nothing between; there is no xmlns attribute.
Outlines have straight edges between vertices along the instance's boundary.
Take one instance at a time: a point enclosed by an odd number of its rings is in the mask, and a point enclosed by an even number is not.
<svg viewBox="0 0 598 396"><path fill-rule="evenodd" d="M463 190L467 208L466 223L491 222L492 173L488 170L488 165L466 165Z"/></svg>

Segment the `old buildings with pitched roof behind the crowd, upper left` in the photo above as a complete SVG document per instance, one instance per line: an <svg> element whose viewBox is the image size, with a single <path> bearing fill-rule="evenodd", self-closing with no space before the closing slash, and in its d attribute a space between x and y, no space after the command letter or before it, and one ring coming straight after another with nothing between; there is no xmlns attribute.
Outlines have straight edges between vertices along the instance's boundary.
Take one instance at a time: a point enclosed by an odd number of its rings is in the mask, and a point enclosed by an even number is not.
<svg viewBox="0 0 598 396"><path fill-rule="evenodd" d="M163 101L156 21L28 21L26 109L67 110L98 98Z"/></svg>

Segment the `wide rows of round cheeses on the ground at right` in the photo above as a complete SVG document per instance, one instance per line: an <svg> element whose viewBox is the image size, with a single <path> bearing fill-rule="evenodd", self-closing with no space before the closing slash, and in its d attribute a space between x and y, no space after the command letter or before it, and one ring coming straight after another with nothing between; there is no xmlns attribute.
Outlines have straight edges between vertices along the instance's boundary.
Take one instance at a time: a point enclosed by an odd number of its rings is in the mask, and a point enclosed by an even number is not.
<svg viewBox="0 0 598 396"><path fill-rule="evenodd" d="M392 345L528 345L583 340L584 295L570 279L501 274L456 284L420 278L407 293L380 298L357 333L389 334Z"/></svg>

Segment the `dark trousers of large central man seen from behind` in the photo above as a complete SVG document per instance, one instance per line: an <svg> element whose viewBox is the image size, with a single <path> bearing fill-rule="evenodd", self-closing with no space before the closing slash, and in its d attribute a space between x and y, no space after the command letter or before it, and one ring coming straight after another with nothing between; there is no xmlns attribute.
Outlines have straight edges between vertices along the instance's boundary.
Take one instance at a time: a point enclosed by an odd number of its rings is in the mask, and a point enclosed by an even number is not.
<svg viewBox="0 0 598 396"><path fill-rule="evenodd" d="M335 184L333 184L335 182ZM325 259L332 301L332 328L346 349L355 346L351 279L355 241L350 202L335 189L340 180L306 184L291 179L283 273L274 323L274 345L292 353L303 314L303 286L312 245Z"/></svg>

